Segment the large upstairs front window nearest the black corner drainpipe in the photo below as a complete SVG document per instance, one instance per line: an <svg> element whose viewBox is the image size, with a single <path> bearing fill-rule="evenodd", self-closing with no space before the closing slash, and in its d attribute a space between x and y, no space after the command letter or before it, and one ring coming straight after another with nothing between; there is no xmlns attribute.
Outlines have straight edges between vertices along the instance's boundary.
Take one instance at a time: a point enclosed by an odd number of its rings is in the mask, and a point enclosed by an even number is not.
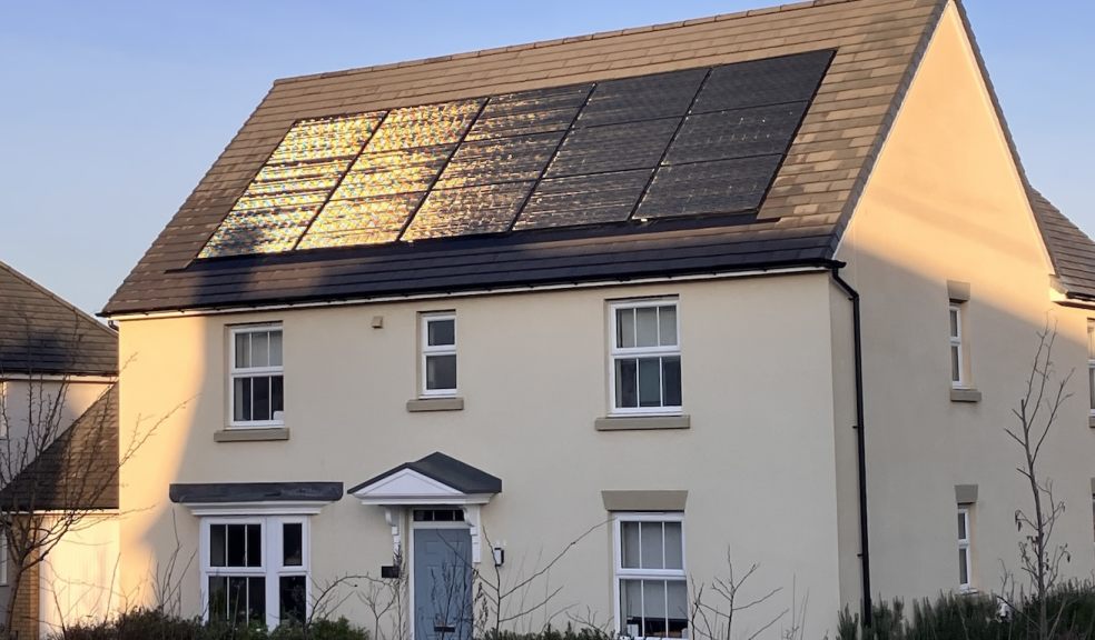
<svg viewBox="0 0 1095 640"><path fill-rule="evenodd" d="M614 413L679 413L681 348L675 300L611 307L609 376Z"/></svg>

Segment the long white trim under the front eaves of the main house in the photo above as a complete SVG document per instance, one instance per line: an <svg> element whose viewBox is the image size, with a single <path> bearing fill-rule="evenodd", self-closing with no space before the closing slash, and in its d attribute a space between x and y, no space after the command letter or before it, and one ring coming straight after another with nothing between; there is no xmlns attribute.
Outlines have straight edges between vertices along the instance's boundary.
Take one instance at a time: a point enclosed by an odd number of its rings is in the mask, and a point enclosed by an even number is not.
<svg viewBox="0 0 1095 640"><path fill-rule="evenodd" d="M349 298L346 300L327 300L322 302L297 302L278 304L250 304L215 309L181 309L174 311L147 311L136 313L106 313L102 317L125 322L127 320L149 320L154 318L182 318L194 316L223 316L227 313L251 313L258 311L284 311L288 309L314 309L319 307L346 307L355 304L375 304L378 302L404 302L408 300L446 300L454 298L473 298L479 296L499 296L506 293L527 293L531 291L559 291L570 289L603 289L605 287L658 284L663 282L690 282L702 280L728 280L737 278L756 278L758 276L795 276L800 273L829 273L829 267L788 267L776 269L749 269L744 271L712 271L691 276L662 276L658 278L612 279L566 284L525 284L522 287L499 287L496 289L472 289L468 291L451 291L446 293L414 293L406 296L375 296Z"/></svg>

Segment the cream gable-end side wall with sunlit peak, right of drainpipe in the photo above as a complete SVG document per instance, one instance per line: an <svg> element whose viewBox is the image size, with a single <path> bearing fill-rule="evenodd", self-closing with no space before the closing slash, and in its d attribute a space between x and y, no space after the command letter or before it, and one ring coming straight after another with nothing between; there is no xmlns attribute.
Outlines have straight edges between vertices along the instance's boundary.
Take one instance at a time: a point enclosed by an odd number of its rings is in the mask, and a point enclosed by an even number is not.
<svg viewBox="0 0 1095 640"><path fill-rule="evenodd" d="M1047 318L1061 373L1086 366L1082 313L1049 300L1050 267L999 122L951 4L866 187L838 258L862 294L874 592L957 587L955 484L977 484L974 586L1016 569L1027 507L1004 433ZM949 400L947 280L971 284L965 341L977 403ZM1044 451L1068 510L1055 532L1088 577L1092 460L1083 376Z"/></svg>

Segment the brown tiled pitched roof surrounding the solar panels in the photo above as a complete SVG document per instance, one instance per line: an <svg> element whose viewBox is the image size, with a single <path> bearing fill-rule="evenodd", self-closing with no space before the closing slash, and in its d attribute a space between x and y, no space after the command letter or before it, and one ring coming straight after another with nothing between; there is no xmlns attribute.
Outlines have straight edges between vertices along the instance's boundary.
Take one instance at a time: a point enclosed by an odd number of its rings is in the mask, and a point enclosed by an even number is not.
<svg viewBox="0 0 1095 640"><path fill-rule="evenodd" d="M818 0L277 81L103 313L827 263L944 7L944 0ZM836 51L831 64L762 202L748 216L199 259L303 119L826 49ZM727 176L732 171L720 179Z"/></svg>

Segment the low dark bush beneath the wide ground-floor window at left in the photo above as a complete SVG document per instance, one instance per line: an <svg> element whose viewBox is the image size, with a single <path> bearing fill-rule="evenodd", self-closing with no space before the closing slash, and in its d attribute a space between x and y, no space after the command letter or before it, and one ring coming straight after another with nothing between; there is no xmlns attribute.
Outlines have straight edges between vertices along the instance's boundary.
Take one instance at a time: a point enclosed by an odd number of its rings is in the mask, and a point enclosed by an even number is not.
<svg viewBox="0 0 1095 640"><path fill-rule="evenodd" d="M52 640L369 640L368 632L345 618L316 620L307 627L283 624L267 631L263 624L237 627L203 622L162 611L136 609L112 620L77 624L50 637Z"/></svg>

